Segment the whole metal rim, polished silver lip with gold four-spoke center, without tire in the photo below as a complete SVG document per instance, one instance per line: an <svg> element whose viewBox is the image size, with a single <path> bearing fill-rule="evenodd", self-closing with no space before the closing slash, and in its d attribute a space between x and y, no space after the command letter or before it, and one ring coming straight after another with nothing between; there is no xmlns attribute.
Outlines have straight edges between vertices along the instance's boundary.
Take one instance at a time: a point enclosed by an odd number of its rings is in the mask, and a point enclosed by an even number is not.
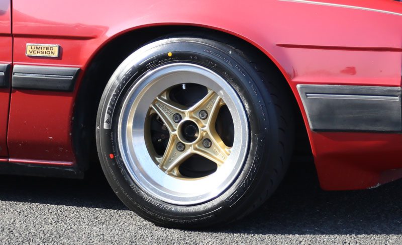
<svg viewBox="0 0 402 245"><path fill-rule="evenodd" d="M123 102L117 136L136 184L177 205L224 192L243 167L249 141L238 94L222 76L191 63L141 76Z"/></svg>

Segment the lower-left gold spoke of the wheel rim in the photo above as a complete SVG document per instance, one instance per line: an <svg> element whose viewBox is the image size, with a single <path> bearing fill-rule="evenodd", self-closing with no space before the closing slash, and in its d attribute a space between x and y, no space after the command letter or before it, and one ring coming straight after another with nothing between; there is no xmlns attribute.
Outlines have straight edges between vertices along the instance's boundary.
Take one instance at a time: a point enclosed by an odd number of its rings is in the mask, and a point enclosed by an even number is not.
<svg viewBox="0 0 402 245"><path fill-rule="evenodd" d="M189 156L189 149L184 148L182 151L179 151L176 147L177 143L179 143L176 135L172 135L169 139L169 143L167 144L165 153L159 161L159 168L161 168L166 173L171 173L174 171L176 167L178 167L181 162L183 162Z"/></svg>

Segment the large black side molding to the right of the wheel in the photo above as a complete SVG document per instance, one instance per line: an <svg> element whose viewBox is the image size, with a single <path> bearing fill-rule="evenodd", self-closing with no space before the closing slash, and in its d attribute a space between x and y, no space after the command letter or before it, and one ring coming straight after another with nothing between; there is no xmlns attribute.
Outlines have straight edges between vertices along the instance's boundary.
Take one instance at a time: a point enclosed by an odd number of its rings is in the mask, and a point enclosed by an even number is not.
<svg viewBox="0 0 402 245"><path fill-rule="evenodd" d="M315 131L401 132L401 88L297 85Z"/></svg>

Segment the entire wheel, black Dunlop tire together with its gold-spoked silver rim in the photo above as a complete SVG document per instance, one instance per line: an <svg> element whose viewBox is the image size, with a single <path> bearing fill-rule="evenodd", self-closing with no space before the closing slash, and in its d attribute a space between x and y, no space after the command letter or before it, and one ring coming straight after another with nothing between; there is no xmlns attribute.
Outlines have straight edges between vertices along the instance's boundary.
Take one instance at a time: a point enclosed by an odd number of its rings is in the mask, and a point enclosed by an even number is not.
<svg viewBox="0 0 402 245"><path fill-rule="evenodd" d="M102 169L122 202L158 226L239 220L287 170L292 100L281 72L246 42L167 34L128 56L105 87L96 117Z"/></svg>

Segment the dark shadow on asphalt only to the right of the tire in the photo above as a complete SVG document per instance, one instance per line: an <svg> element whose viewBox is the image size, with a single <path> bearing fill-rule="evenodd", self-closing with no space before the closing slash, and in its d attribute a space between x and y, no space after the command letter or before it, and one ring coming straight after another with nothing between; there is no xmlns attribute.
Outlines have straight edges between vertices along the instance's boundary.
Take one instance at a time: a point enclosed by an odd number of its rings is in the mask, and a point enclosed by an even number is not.
<svg viewBox="0 0 402 245"><path fill-rule="evenodd" d="M309 168L307 168L309 169ZM402 180L375 189L323 191L315 170L293 168L277 192L222 232L250 234L402 234ZM246 229L247 227L247 229Z"/></svg>

